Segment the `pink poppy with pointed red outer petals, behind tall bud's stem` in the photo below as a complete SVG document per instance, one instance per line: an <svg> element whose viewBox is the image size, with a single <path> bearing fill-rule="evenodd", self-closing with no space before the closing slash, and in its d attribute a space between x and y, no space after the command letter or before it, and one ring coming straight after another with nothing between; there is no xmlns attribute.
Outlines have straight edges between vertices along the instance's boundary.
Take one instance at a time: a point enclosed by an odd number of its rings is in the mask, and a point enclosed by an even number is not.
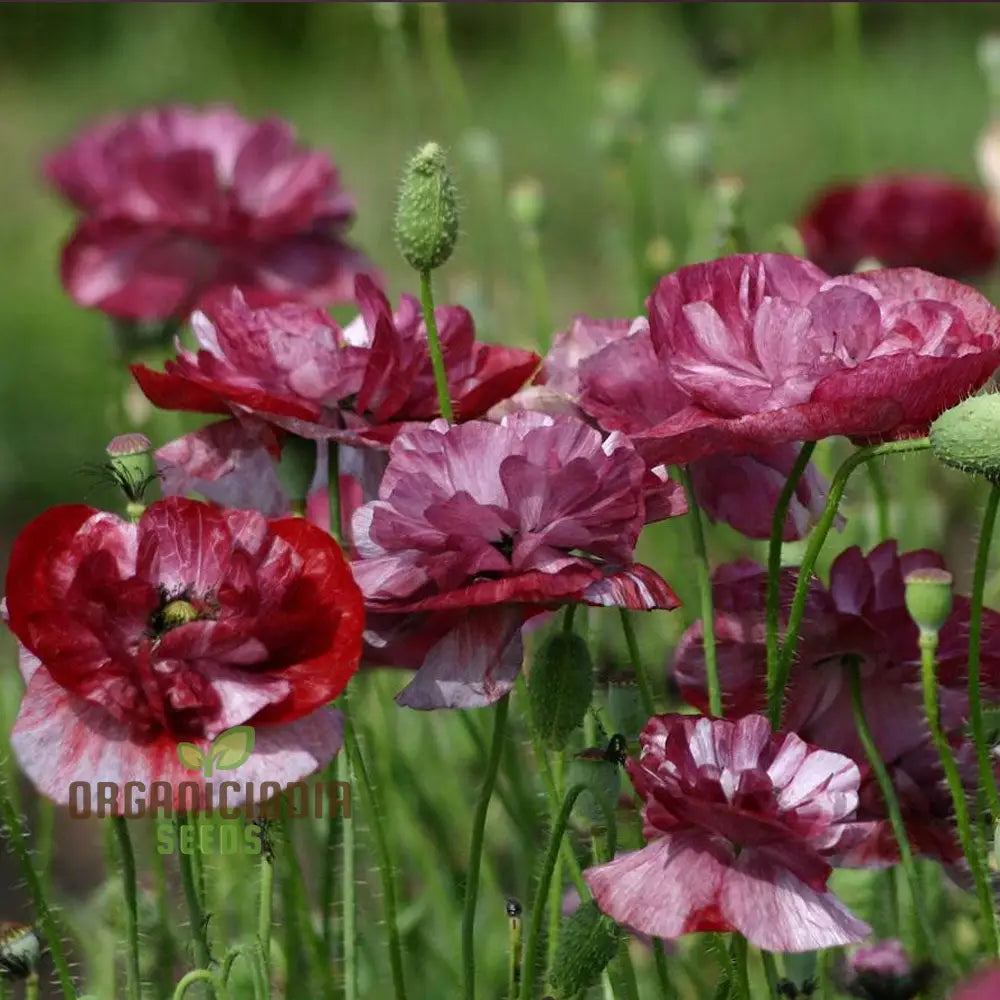
<svg viewBox="0 0 1000 1000"><path fill-rule="evenodd" d="M238 291L217 296L192 317L197 352L178 343L165 373L132 372L163 409L253 414L301 437L385 446L405 424L439 413L427 331L411 296L394 314L368 278L356 295L361 315L343 330L307 306L251 309ZM435 315L460 420L509 396L538 365L531 351L478 343L460 306Z"/></svg>

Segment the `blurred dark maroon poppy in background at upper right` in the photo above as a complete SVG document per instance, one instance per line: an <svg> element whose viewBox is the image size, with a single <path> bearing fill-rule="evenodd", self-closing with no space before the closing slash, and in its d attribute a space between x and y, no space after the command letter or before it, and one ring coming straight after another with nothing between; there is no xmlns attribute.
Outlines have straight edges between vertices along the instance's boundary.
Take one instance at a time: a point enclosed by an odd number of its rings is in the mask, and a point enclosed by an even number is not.
<svg viewBox="0 0 1000 1000"><path fill-rule="evenodd" d="M951 278L989 271L1000 234L986 195L946 177L876 177L824 191L799 232L809 259L846 274L866 257Z"/></svg>

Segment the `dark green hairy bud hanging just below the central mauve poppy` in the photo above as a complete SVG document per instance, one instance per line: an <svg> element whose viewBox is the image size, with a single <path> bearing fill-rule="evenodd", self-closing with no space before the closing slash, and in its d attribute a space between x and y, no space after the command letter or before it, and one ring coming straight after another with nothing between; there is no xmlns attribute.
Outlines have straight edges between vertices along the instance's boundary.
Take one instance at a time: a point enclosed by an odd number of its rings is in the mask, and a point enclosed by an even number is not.
<svg viewBox="0 0 1000 1000"><path fill-rule="evenodd" d="M554 632L528 674L528 697L542 739L561 750L582 722L594 693L594 665L575 632Z"/></svg>

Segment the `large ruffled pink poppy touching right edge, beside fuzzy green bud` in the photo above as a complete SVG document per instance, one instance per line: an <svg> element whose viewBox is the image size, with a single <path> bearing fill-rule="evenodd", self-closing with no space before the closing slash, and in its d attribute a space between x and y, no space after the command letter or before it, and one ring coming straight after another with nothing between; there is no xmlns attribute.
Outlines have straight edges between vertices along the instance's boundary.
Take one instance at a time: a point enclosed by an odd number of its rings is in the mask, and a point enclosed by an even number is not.
<svg viewBox="0 0 1000 1000"><path fill-rule="evenodd" d="M626 432L650 464L925 434L1000 363L1000 313L915 268L829 278L795 257L740 254L667 275L647 305L645 357L624 371L606 359L583 406L608 427L642 420Z"/></svg>

